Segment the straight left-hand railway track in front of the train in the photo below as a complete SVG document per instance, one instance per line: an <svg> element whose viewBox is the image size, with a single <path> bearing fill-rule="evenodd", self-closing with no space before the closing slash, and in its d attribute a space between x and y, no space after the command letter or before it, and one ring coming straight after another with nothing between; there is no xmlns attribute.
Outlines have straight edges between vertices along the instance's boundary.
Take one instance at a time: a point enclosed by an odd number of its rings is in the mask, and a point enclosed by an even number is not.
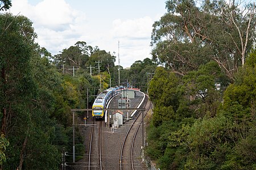
<svg viewBox="0 0 256 170"><path fill-rule="evenodd" d="M94 125L90 133L90 147L89 147L89 161L88 169L100 169L102 170L101 159L101 128L102 121L94 120Z"/></svg>

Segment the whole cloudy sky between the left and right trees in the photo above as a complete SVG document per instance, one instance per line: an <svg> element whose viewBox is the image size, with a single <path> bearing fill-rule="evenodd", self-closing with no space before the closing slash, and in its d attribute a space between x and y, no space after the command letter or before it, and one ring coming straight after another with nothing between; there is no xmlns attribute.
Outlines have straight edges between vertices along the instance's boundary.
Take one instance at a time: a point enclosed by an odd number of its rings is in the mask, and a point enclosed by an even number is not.
<svg viewBox="0 0 256 170"><path fill-rule="evenodd" d="M36 42L52 55L85 41L116 56L120 65L151 58L152 24L167 12L166 0L13 0L9 12L27 16Z"/></svg>

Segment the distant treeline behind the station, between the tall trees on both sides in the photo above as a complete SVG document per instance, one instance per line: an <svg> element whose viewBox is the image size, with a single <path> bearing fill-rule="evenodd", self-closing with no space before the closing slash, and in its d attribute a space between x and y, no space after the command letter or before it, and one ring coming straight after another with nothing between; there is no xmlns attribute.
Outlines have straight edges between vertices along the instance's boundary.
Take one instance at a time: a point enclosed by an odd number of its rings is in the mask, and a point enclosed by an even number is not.
<svg viewBox="0 0 256 170"><path fill-rule="evenodd" d="M73 75L92 74L98 81L101 80L102 89L109 86L118 86L119 78L120 85L133 86L140 88L142 91L147 91L147 83L152 78L157 64L149 58L138 60L131 65L130 68L116 66L115 56L100 50L98 46L92 48L84 41L78 41L74 46L68 49L63 49L60 54L47 57L56 65L60 73ZM119 75L118 75L118 69ZM100 84L94 84L94 87L100 87Z"/></svg>

